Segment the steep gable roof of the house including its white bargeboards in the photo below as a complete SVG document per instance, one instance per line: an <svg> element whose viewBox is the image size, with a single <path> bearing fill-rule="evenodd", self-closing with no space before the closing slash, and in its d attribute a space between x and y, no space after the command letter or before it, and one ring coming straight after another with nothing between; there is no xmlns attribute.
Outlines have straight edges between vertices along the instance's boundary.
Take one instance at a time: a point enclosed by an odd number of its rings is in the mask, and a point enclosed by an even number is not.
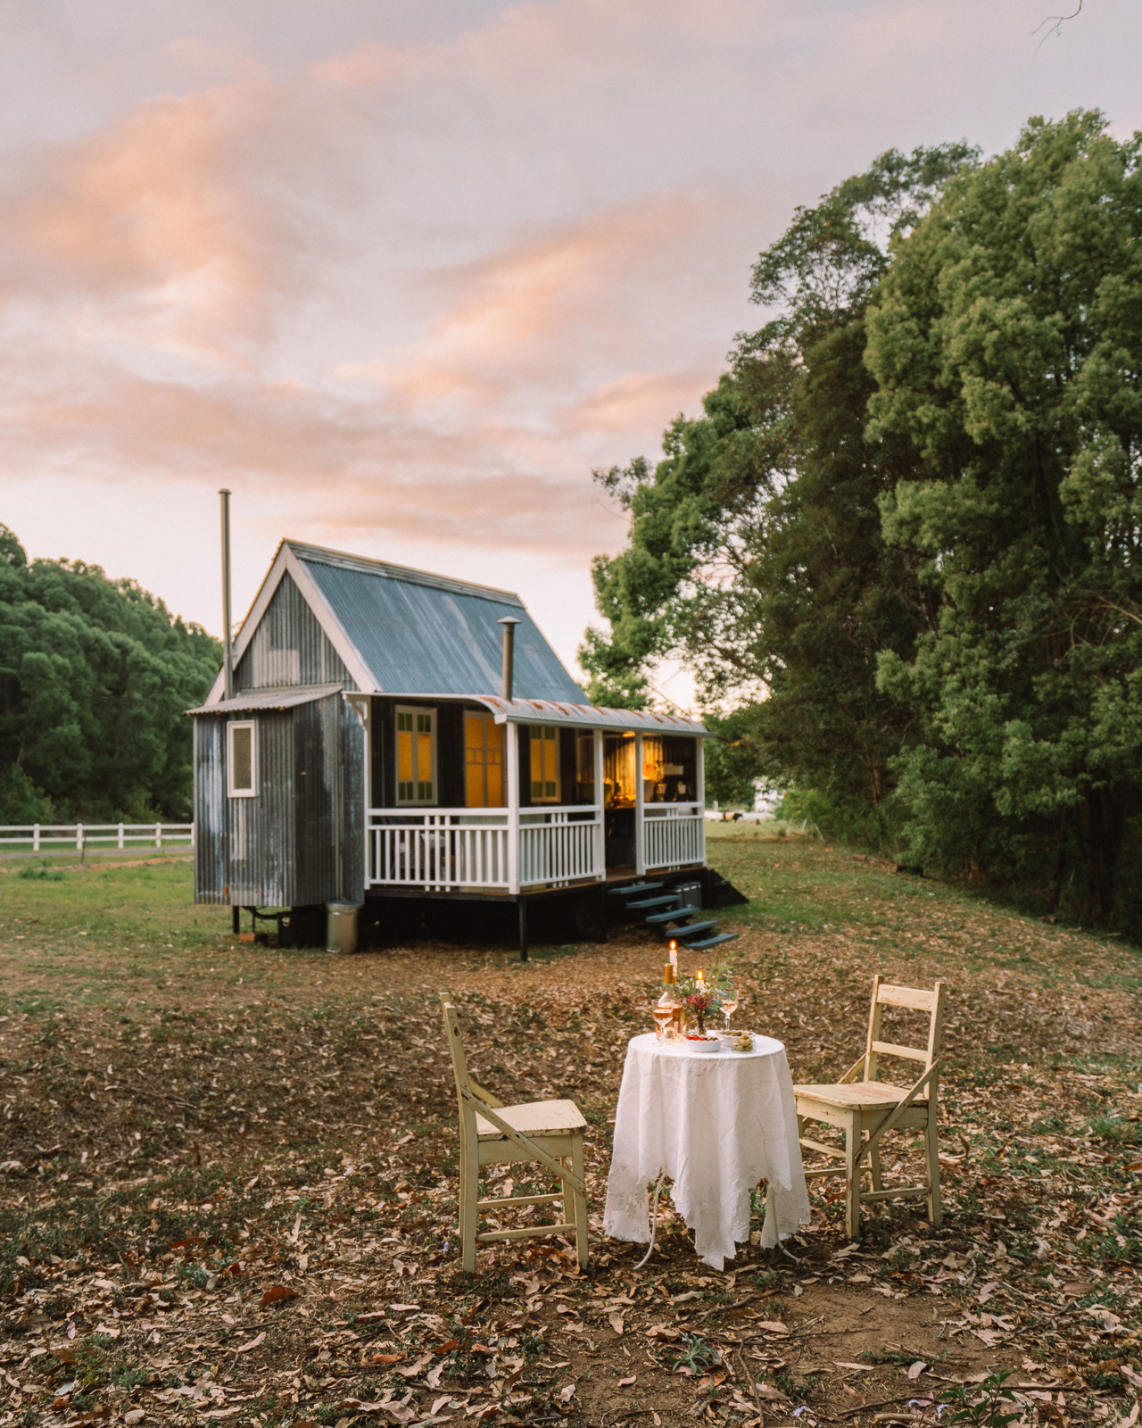
<svg viewBox="0 0 1142 1428"><path fill-rule="evenodd" d="M246 653L284 574L363 693L401 695L498 694L504 615L514 615L514 693L581 704L584 693L544 640L524 603L492 590L381 560L286 540L234 641ZM221 675L207 704L223 694Z"/></svg>

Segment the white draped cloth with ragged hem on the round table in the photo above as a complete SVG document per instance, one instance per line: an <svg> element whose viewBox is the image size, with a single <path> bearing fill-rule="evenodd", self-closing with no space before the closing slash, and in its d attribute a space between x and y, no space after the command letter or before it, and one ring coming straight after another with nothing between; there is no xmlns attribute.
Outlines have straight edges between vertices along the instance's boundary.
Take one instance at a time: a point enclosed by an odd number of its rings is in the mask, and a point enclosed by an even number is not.
<svg viewBox="0 0 1142 1428"><path fill-rule="evenodd" d="M627 1047L602 1228L650 1240L647 1188L665 1171L694 1248L715 1269L749 1238L749 1191L768 1181L761 1242L809 1222L785 1047L754 1037L749 1051L688 1051L654 1032Z"/></svg>

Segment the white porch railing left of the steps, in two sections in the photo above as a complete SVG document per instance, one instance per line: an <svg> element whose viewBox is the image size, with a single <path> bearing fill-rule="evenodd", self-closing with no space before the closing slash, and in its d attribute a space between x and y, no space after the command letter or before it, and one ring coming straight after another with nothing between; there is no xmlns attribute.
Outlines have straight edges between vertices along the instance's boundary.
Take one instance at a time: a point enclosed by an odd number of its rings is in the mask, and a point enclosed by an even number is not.
<svg viewBox="0 0 1142 1428"><path fill-rule="evenodd" d="M602 811L594 807L521 808L518 885L605 877ZM370 887L512 890L507 808L370 808Z"/></svg>

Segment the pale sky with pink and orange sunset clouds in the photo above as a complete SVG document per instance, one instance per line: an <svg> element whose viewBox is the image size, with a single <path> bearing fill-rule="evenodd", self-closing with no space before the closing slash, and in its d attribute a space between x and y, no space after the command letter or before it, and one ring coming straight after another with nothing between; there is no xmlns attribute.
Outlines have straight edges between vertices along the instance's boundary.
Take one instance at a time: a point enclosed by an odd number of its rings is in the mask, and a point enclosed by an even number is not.
<svg viewBox="0 0 1142 1428"><path fill-rule="evenodd" d="M293 537L515 590L574 668L591 470L699 413L797 204L1142 129L1142 6L1078 3L0 0L0 523L218 634L226 486L236 617Z"/></svg>

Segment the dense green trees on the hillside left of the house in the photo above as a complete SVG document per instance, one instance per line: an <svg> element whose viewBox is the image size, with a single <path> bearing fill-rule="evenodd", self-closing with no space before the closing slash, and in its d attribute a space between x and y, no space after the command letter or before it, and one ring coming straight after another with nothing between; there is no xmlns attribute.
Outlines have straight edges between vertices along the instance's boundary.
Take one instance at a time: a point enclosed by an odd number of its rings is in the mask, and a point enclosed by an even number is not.
<svg viewBox="0 0 1142 1428"><path fill-rule="evenodd" d="M29 563L0 526L0 823L191 815L191 730L218 643L131 580Z"/></svg>

